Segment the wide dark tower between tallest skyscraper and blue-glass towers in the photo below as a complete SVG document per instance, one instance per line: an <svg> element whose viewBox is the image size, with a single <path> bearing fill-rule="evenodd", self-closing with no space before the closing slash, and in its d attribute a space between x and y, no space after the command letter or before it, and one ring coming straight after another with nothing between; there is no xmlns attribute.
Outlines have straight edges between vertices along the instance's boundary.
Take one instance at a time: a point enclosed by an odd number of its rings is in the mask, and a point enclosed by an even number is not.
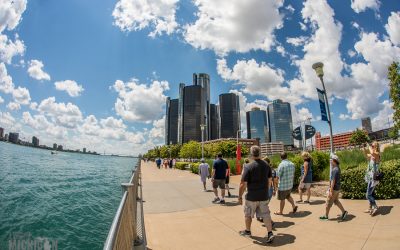
<svg viewBox="0 0 400 250"><path fill-rule="evenodd" d="M240 130L239 96L234 93L219 95L219 115L220 138L236 138Z"/></svg>

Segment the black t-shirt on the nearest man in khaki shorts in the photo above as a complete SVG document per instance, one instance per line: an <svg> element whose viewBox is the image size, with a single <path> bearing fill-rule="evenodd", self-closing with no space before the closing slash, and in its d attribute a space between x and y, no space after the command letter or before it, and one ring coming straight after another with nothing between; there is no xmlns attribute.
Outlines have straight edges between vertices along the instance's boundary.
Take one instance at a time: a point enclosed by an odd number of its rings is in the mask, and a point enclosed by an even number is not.
<svg viewBox="0 0 400 250"><path fill-rule="evenodd" d="M271 167L265 161L255 160L247 164L242 175L242 181L247 182L246 200L268 200L268 178L271 177Z"/></svg>

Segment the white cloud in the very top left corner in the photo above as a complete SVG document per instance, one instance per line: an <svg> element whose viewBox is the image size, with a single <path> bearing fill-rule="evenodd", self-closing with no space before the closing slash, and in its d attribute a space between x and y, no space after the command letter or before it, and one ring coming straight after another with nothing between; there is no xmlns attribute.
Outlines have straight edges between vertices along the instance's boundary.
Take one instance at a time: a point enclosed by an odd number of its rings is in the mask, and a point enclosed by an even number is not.
<svg viewBox="0 0 400 250"><path fill-rule="evenodd" d="M25 9L26 0L0 0L0 33L17 27Z"/></svg>

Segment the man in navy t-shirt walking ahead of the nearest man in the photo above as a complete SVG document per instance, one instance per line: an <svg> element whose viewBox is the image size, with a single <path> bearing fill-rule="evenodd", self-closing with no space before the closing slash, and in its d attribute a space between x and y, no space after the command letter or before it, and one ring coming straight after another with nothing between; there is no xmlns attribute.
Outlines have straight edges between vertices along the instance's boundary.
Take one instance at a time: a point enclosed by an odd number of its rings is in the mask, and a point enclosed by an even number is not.
<svg viewBox="0 0 400 250"><path fill-rule="evenodd" d="M211 182L215 194L213 203L219 202L220 204L225 204L225 179L227 174L228 163L222 159L222 154L218 154L218 158L214 161L211 173ZM218 187L221 189L221 199L218 197Z"/></svg>

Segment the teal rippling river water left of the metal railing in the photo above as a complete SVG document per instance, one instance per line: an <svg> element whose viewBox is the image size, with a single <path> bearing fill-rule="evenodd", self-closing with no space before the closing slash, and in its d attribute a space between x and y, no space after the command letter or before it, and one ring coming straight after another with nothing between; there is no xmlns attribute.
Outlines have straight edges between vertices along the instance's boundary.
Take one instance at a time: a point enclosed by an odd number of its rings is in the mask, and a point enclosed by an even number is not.
<svg viewBox="0 0 400 250"><path fill-rule="evenodd" d="M120 183L136 162L0 142L0 249L24 238L58 249L102 249Z"/></svg>

